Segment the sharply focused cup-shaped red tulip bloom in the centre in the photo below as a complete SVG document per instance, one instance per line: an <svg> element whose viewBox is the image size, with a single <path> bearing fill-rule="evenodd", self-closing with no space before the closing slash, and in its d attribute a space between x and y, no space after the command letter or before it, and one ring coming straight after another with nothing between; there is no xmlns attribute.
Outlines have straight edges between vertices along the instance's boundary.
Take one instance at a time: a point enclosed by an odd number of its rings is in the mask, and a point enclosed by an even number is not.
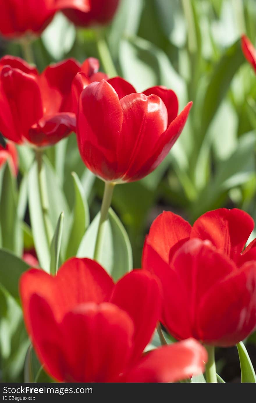
<svg viewBox="0 0 256 403"><path fill-rule="evenodd" d="M87 85L77 116L83 162L105 181L122 183L145 177L169 153L191 105L177 116L178 100L171 89L153 87L136 93L120 77Z"/></svg>

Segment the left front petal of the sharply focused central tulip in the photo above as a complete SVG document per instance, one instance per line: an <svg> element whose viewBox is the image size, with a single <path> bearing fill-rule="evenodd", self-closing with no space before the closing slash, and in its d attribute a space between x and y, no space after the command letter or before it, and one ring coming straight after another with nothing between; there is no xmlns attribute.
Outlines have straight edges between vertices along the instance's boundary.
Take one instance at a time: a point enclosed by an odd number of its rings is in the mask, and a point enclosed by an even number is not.
<svg viewBox="0 0 256 403"><path fill-rule="evenodd" d="M94 82L79 101L77 139L85 165L105 180L119 177L117 143L123 110L117 93L107 81Z"/></svg>

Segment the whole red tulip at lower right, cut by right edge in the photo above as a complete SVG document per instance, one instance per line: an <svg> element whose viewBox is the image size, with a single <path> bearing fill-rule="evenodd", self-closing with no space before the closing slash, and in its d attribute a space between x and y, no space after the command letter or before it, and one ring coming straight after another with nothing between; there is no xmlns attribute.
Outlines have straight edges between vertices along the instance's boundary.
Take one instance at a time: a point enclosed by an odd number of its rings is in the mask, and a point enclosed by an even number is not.
<svg viewBox="0 0 256 403"><path fill-rule="evenodd" d="M255 241L245 212L219 209L191 227L171 212L160 214L146 238L142 267L161 281L161 321L177 339L231 346L256 326Z"/></svg>

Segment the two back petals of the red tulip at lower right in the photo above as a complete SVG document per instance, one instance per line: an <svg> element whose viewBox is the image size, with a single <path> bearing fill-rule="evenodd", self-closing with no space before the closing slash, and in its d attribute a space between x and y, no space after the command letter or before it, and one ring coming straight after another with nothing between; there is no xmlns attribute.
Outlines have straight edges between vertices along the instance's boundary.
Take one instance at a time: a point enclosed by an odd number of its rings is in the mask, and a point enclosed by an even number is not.
<svg viewBox="0 0 256 403"><path fill-rule="evenodd" d="M146 243L168 263L175 251L188 239L208 239L241 267L247 261L256 260L256 239L244 249L253 229L252 217L237 208L208 211L193 226L182 217L164 211L152 223Z"/></svg>

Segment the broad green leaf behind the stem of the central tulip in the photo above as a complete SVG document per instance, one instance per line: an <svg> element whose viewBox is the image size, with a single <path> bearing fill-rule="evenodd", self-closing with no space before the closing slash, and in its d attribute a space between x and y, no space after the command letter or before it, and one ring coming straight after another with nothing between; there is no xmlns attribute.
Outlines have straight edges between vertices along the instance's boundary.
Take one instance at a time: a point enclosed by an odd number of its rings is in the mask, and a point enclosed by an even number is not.
<svg viewBox="0 0 256 403"><path fill-rule="evenodd" d="M93 258L99 220L100 213L90 224L79 245L77 252L79 258ZM111 208L105 226L100 264L114 280L118 280L133 268L131 244L128 235L123 224Z"/></svg>

